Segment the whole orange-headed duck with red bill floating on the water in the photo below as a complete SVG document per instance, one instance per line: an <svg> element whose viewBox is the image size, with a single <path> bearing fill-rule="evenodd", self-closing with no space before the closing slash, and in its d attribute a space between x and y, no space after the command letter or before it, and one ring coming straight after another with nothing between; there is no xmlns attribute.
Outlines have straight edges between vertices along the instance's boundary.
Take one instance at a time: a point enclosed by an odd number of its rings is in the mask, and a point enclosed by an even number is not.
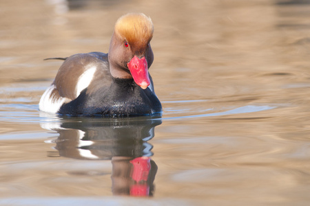
<svg viewBox="0 0 310 206"><path fill-rule="evenodd" d="M142 13L121 16L107 53L74 54L64 60L41 96L39 111L68 116L136 116L162 113L149 67L152 19Z"/></svg>

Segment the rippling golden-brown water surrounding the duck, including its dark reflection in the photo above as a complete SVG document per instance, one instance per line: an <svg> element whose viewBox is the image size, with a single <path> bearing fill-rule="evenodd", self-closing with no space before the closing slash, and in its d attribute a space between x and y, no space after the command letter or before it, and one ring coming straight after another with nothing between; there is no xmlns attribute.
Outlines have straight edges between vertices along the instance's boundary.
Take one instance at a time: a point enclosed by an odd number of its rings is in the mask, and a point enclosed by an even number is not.
<svg viewBox="0 0 310 206"><path fill-rule="evenodd" d="M163 117L40 116L43 58L107 52L127 12L154 22ZM301 0L2 1L0 204L309 205L309 34Z"/></svg>

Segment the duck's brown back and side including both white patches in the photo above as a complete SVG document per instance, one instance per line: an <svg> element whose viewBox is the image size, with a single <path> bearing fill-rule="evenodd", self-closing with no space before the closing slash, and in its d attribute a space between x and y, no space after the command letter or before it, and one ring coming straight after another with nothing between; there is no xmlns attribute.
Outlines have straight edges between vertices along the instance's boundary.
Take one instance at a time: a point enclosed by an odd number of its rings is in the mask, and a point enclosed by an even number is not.
<svg viewBox="0 0 310 206"><path fill-rule="evenodd" d="M65 59L54 82L42 95L39 110L57 113L63 104L79 97L84 89L87 88L87 93L93 93L110 85L111 81L107 54L74 54Z"/></svg>

